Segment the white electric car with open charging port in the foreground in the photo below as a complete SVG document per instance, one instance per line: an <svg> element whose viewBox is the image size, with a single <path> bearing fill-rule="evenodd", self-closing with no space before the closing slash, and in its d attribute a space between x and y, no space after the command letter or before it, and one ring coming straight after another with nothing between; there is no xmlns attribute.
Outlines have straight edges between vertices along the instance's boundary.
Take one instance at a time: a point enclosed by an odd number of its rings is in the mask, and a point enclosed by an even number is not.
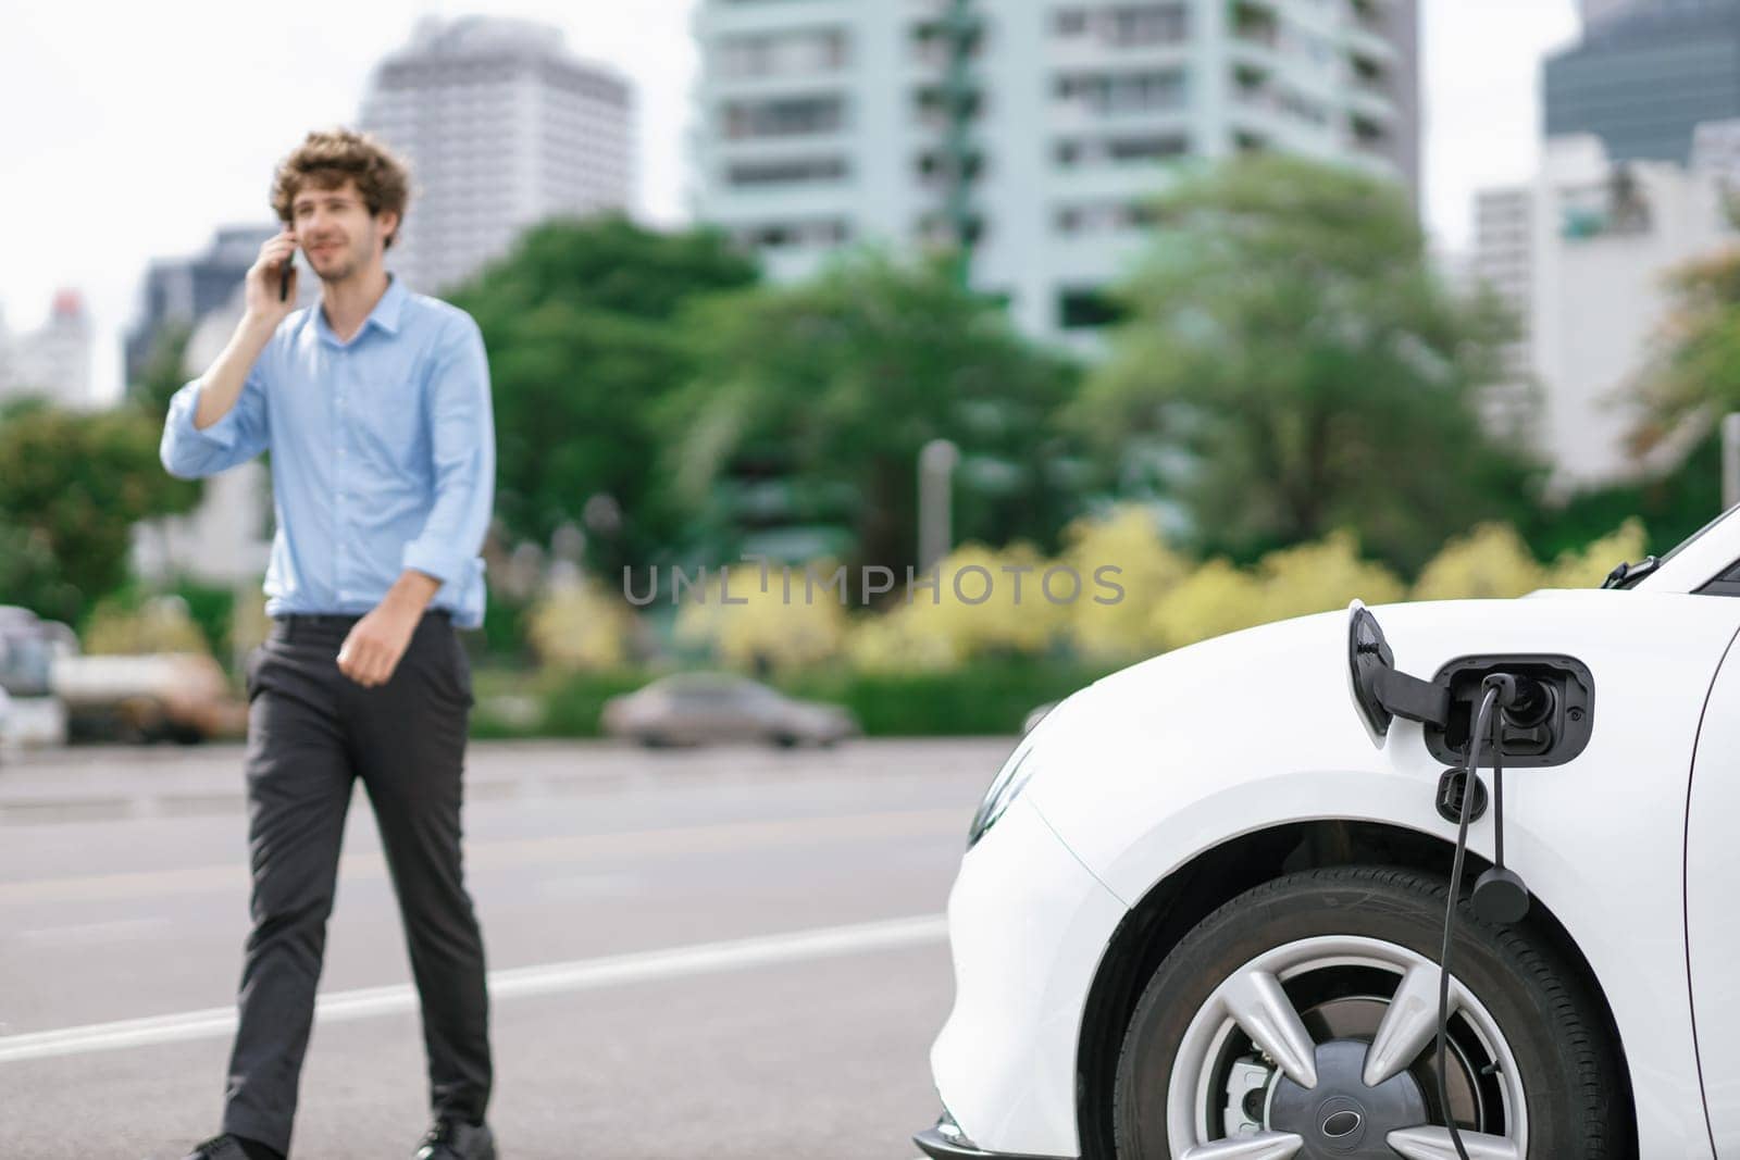
<svg viewBox="0 0 1740 1160"><path fill-rule="evenodd" d="M1740 508L1620 572L1355 602L1060 704L973 824L919 1146L1740 1157ZM1533 697L1469 793L1498 673ZM1469 899L1495 857L1514 922Z"/></svg>

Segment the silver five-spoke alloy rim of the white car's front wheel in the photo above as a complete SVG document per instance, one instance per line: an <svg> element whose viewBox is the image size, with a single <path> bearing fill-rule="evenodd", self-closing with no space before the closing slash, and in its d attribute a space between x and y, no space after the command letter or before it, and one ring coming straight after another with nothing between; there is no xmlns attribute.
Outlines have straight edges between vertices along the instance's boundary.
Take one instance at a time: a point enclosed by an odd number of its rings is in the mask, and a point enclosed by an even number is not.
<svg viewBox="0 0 1740 1160"><path fill-rule="evenodd" d="M1171 1155L1456 1160L1432 1059L1437 986L1434 960L1364 936L1298 939L1251 958L1209 993L1180 1042L1166 1094ZM1449 1002L1446 1082L1469 1157L1522 1160L1528 1108L1516 1056L1455 974ZM1234 1111L1234 1068L1244 1083L1255 1070L1272 1071L1260 1092L1246 1092L1242 1111Z"/></svg>

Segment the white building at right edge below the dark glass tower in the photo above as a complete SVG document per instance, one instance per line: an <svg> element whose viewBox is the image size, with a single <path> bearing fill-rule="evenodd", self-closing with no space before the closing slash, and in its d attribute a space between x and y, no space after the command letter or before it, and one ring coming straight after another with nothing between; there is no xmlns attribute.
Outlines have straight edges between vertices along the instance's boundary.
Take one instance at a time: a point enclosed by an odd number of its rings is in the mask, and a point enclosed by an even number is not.
<svg viewBox="0 0 1740 1160"><path fill-rule="evenodd" d="M1634 391L1660 351L1672 271L1737 242L1719 169L1613 165L1594 136L1549 139L1531 184L1477 197L1476 271L1519 315L1512 365L1538 384L1533 442L1556 490L1636 478L1683 450L1634 454Z"/></svg>

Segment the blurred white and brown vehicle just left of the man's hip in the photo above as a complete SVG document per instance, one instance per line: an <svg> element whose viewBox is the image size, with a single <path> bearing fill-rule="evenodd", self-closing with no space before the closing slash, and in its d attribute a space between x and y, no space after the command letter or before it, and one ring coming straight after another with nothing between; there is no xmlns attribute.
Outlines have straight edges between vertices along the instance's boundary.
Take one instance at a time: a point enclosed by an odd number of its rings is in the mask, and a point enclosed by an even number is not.
<svg viewBox="0 0 1740 1160"><path fill-rule="evenodd" d="M197 652L59 656L52 685L80 739L195 744L247 732L247 704Z"/></svg>

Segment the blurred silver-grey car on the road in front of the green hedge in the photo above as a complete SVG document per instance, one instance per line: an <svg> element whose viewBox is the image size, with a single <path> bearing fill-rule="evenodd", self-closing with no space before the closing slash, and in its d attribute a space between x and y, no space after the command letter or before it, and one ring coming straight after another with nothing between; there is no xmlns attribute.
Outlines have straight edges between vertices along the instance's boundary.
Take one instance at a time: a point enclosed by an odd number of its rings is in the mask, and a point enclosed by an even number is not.
<svg viewBox="0 0 1740 1160"><path fill-rule="evenodd" d="M640 744L771 741L832 746L856 736L858 720L837 704L795 701L731 673L677 673L611 697L604 732Z"/></svg>

